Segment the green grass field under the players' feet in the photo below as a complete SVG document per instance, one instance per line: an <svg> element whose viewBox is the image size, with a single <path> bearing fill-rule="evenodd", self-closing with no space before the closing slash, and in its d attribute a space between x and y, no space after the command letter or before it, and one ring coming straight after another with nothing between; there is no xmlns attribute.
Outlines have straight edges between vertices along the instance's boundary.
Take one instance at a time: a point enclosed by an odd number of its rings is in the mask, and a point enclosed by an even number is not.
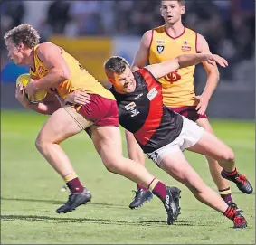
<svg viewBox="0 0 256 245"><path fill-rule="evenodd" d="M248 228L233 230L232 221L195 200L185 186L147 160L147 168L166 184L182 190L181 215L166 224L166 211L157 198L129 210L136 185L110 174L85 134L62 144L90 189L92 202L75 212L57 214L66 201L62 179L36 151L34 139L46 116L2 112L1 133L1 240L2 244L255 244L255 194L233 198L244 211ZM255 127L252 122L212 120L213 128L236 153L238 169L255 186ZM124 141L125 149L125 141ZM114 149L113 149L114 150ZM202 155L185 153L204 181L216 190Z"/></svg>

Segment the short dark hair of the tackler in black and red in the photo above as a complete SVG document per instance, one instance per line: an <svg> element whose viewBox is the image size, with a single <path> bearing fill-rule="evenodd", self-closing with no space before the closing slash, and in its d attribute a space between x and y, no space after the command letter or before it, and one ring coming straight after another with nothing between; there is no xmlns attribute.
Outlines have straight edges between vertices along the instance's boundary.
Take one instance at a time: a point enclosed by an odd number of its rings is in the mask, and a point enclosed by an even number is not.
<svg viewBox="0 0 256 245"><path fill-rule="evenodd" d="M121 74L129 67L128 61L120 56L112 56L109 60L105 61L104 68L112 73Z"/></svg>

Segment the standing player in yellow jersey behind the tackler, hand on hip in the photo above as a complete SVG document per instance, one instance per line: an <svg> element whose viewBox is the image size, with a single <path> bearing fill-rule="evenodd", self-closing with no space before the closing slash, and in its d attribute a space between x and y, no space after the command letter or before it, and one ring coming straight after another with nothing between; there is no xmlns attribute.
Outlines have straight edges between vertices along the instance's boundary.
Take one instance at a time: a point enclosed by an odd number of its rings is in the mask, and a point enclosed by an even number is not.
<svg viewBox="0 0 256 245"><path fill-rule="evenodd" d="M149 61L149 64L156 64L174 59L175 56L182 53L211 53L204 36L195 33L182 24L182 15L185 14L184 0L161 1L160 12L165 24L144 33L132 64L132 71L143 68L147 61ZM194 65L166 74L159 81L163 85L164 104L168 108L193 120L199 126L204 127L207 132L213 134L213 128L205 111L218 84L219 71L216 65L209 65L206 61L203 64L208 79L201 95L196 96L194 91ZM130 159L145 165L144 155L140 147L132 137L130 138L128 132L126 132L126 137ZM221 175L223 168L212 157L205 157L213 181L217 185L223 200L228 205L238 209L232 200L230 184L223 178L225 176ZM138 184L137 193L129 207L131 209L137 208L144 202L151 200L152 197L153 195L149 190Z"/></svg>

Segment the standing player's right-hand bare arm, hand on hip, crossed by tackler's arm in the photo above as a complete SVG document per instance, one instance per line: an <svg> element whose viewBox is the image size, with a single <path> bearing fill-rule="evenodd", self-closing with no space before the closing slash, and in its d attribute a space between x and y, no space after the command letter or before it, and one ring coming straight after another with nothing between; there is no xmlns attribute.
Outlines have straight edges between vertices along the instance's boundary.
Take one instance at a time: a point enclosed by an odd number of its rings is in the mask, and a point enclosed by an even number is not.
<svg viewBox="0 0 256 245"><path fill-rule="evenodd" d="M208 42L204 39L204 36L200 34L197 34L197 52L211 53ZM205 61L203 64L207 73L207 81L202 95L196 96L196 99L199 101L196 110L198 110L198 114L201 115L205 113L208 102L211 99L220 79L220 73L216 64L211 65Z"/></svg>

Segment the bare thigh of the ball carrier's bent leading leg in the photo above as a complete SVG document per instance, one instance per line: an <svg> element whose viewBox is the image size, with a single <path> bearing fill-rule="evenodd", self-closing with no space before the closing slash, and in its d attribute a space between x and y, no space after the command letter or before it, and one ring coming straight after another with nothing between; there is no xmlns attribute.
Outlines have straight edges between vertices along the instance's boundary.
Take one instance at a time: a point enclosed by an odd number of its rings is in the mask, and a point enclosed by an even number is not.
<svg viewBox="0 0 256 245"><path fill-rule="evenodd" d="M90 126L88 121L88 126ZM84 119L84 126L86 119ZM36 139L38 142L61 143L62 140L81 132L82 128L78 121L66 111L65 108L56 110L44 123Z"/></svg>

